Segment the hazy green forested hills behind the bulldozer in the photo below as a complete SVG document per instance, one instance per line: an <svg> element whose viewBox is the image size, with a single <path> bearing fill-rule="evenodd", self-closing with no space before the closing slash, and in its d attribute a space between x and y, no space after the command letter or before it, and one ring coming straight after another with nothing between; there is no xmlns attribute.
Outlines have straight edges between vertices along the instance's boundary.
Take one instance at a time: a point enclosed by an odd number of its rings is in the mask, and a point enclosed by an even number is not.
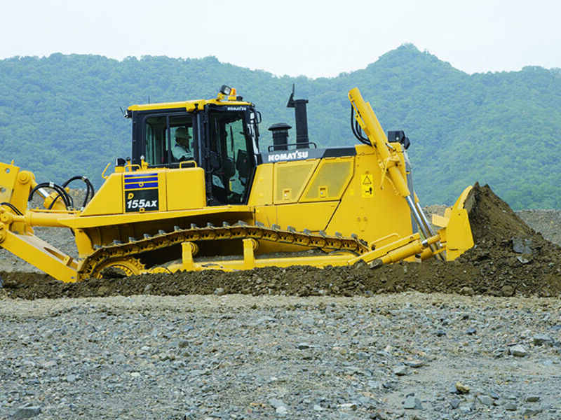
<svg viewBox="0 0 561 420"><path fill-rule="evenodd" d="M296 99L309 99L310 139L320 147L356 143L347 92L359 87L384 130L410 137L421 204L451 204L479 181L514 209L561 207L561 70L468 75L413 45L366 69L318 79L277 77L214 57L0 60L0 161L14 159L39 182L84 174L100 186L105 165L130 155L130 120L120 108L215 97L222 84L257 105L262 144L269 144L269 125L293 125L285 107L292 83Z"/></svg>

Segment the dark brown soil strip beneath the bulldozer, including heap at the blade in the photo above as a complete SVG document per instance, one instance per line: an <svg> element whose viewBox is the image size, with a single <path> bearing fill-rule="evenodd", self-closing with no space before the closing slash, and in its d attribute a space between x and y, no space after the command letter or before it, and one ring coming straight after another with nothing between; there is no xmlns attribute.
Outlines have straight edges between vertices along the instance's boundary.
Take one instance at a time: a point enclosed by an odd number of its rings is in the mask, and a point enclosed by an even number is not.
<svg viewBox="0 0 561 420"><path fill-rule="evenodd" d="M454 262L400 262L371 269L267 267L241 272L178 272L60 283L46 274L0 272L0 296L109 295L373 295L417 290L464 295L561 295L561 248L529 228L489 188L475 184L466 200L475 246Z"/></svg>

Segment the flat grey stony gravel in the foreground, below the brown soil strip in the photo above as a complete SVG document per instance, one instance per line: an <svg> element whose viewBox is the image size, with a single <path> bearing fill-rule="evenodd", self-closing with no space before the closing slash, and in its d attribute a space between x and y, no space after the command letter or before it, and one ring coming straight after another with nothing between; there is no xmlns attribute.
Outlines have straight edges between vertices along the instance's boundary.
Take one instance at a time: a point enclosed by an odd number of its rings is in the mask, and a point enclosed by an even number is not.
<svg viewBox="0 0 561 420"><path fill-rule="evenodd" d="M553 298L0 301L6 419L559 419Z"/></svg>

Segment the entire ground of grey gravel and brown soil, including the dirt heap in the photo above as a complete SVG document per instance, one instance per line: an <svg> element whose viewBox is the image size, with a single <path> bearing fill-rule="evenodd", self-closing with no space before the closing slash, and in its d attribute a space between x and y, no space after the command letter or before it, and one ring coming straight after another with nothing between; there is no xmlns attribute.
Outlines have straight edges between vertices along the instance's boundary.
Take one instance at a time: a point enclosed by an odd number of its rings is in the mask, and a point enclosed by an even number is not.
<svg viewBox="0 0 561 420"><path fill-rule="evenodd" d="M218 273L50 285L0 250L0 419L561 419L560 212L519 212L542 238L478 194L456 262L236 274L245 295Z"/></svg>

